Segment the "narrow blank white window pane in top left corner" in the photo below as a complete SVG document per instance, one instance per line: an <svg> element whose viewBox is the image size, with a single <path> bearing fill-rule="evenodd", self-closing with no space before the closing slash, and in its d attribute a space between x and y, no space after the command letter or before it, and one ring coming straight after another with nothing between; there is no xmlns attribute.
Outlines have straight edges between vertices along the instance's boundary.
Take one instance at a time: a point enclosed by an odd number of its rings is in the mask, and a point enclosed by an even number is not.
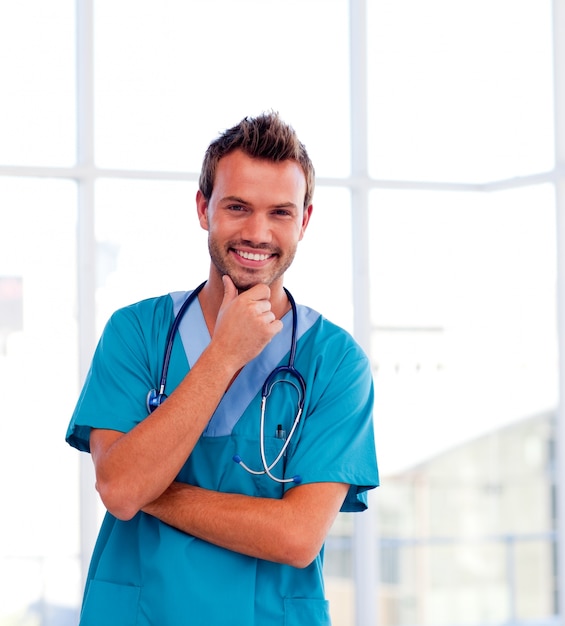
<svg viewBox="0 0 565 626"><path fill-rule="evenodd" d="M0 163L75 162L75 2L0 3Z"/></svg>

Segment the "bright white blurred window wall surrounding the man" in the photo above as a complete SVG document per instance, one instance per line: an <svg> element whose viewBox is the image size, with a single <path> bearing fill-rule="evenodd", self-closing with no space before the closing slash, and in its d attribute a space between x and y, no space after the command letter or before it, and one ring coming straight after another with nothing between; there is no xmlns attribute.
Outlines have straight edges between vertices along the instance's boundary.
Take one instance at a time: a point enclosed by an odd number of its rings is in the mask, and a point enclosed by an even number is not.
<svg viewBox="0 0 565 626"><path fill-rule="evenodd" d="M564 14L0 0L0 626L77 623L102 510L64 436L96 341L207 276L203 153L271 109L317 171L286 284L374 370L382 486L328 539L334 626L562 623Z"/></svg>

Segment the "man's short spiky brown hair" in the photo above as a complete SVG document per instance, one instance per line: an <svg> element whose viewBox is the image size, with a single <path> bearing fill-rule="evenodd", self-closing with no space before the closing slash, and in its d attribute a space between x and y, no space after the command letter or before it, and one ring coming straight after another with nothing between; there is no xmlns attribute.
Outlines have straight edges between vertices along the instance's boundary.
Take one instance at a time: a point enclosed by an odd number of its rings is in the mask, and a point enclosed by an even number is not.
<svg viewBox="0 0 565 626"><path fill-rule="evenodd" d="M212 195L220 159L234 150L242 150L250 157L274 162L287 159L297 161L306 177L304 208L312 203L315 175L312 161L295 130L274 112L263 113L255 118L245 117L208 146L199 180L200 191L207 200Z"/></svg>

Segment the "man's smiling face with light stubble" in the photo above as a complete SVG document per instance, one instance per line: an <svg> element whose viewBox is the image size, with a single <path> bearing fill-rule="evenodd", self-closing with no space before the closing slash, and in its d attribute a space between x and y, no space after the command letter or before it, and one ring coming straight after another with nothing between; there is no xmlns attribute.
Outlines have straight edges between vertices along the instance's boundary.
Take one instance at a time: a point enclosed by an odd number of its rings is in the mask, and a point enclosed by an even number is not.
<svg viewBox="0 0 565 626"><path fill-rule="evenodd" d="M240 291L282 284L312 212L312 206L303 208L305 192L296 161L273 163L239 150L223 157L209 202L197 196L213 268Z"/></svg>

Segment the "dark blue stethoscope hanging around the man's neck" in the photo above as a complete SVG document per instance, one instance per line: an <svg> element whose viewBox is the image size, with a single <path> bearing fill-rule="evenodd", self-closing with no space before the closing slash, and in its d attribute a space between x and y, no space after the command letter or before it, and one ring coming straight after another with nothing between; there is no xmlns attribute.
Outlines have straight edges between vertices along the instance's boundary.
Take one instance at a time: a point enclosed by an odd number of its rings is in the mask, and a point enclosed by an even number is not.
<svg viewBox="0 0 565 626"><path fill-rule="evenodd" d="M202 290L202 287L206 284L204 281L201 285L198 285L196 289L188 296L188 298L184 301L179 312L175 316L175 319L169 329L169 333L167 335L167 347L165 348L165 358L163 360L163 369L161 370L161 380L159 382L159 391L157 389L150 389L147 394L147 409L150 413L152 413L157 407L159 407L163 402L167 399L167 394L165 393L165 387L167 385L167 375L169 372L169 363L171 361L171 354L173 351L173 343L175 336L177 334L179 325L182 321L182 318L189 306L194 302L194 300L198 297L198 294ZM302 374L294 367L294 357L296 355L296 331L298 325L298 315L296 312L296 303L294 298L290 294L290 291L284 288L285 293L288 297L288 301L290 302L290 307L292 309L292 338L290 343L290 354L288 357L288 365L279 365L276 367L268 376L265 382L263 383L263 387L261 389L261 423L260 423L260 434L259 434L259 448L261 452L261 463L263 465L263 469L261 470L253 470L248 467L239 454L236 454L233 457L233 460L238 463L245 471L250 474L254 474L256 476L260 476L262 474L266 474L269 478L274 480L277 483L300 483L302 482L302 478L298 475L293 476L292 478L277 478L273 475L272 469L280 462L280 460L286 454L287 448L290 445L292 437L296 431L298 423L300 422L300 418L302 417L302 410L304 409L304 401L306 398L306 381ZM277 378L280 374L288 374L294 380L290 380L288 378ZM296 393L298 395L298 404L297 404L297 412L296 417L294 418L294 422L292 424L292 428L286 437L284 445L282 446L280 452L272 463L267 461L267 455L265 453L265 410L267 407L267 398L271 395L273 388L278 383L287 383L292 385L296 389ZM280 438L284 438L284 431L282 430L282 426L279 425L277 427L277 436Z"/></svg>

